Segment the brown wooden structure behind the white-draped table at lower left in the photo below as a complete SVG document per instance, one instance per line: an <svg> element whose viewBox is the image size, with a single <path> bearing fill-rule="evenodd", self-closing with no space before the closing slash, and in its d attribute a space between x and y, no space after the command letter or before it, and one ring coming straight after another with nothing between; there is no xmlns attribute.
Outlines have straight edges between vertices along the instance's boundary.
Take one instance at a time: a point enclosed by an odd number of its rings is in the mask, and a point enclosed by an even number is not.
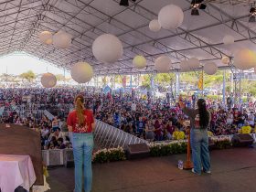
<svg viewBox="0 0 256 192"><path fill-rule="evenodd" d="M40 134L36 131L16 124L0 124L0 154L29 155L37 176L37 186L44 185L40 143Z"/></svg>

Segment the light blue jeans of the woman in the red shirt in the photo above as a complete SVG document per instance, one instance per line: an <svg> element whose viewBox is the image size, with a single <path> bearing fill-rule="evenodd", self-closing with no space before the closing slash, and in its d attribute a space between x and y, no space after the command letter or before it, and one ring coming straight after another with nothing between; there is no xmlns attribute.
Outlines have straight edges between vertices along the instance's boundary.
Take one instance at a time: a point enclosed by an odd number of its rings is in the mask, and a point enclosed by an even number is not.
<svg viewBox="0 0 256 192"><path fill-rule="evenodd" d="M75 192L82 192L82 165L84 166L84 191L91 192L93 150L92 133L73 133L73 154L75 161Z"/></svg>

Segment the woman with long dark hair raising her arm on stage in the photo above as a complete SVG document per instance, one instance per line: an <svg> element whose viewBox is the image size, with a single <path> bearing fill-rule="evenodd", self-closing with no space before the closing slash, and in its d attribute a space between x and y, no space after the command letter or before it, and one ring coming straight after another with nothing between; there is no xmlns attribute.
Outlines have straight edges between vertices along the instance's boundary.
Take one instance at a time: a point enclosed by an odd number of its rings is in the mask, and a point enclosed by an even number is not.
<svg viewBox="0 0 256 192"><path fill-rule="evenodd" d="M183 112L190 118L191 148L194 168L192 172L201 175L201 165L203 171L210 174L210 157L208 152L208 125L210 114L207 111L206 101L199 99L197 109L188 109L179 97L179 105Z"/></svg>

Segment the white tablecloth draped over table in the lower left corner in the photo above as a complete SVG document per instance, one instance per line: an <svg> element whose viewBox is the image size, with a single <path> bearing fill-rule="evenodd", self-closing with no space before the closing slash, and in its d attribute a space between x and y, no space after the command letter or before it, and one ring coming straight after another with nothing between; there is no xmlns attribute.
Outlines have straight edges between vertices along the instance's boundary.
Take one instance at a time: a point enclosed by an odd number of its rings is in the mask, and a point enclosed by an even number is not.
<svg viewBox="0 0 256 192"><path fill-rule="evenodd" d="M0 155L0 170L2 192L14 192L19 186L29 191L37 178L28 155Z"/></svg>

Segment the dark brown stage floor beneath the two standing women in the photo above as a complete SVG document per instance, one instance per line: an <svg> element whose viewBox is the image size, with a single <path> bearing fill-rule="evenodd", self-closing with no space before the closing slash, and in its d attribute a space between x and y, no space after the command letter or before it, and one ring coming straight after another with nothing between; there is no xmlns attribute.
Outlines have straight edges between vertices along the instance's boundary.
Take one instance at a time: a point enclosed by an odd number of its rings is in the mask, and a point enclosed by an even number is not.
<svg viewBox="0 0 256 192"><path fill-rule="evenodd" d="M93 165L92 192L255 192L256 149L211 152L212 174L195 176L177 169L186 155ZM49 171L50 192L72 192L73 168Z"/></svg>

